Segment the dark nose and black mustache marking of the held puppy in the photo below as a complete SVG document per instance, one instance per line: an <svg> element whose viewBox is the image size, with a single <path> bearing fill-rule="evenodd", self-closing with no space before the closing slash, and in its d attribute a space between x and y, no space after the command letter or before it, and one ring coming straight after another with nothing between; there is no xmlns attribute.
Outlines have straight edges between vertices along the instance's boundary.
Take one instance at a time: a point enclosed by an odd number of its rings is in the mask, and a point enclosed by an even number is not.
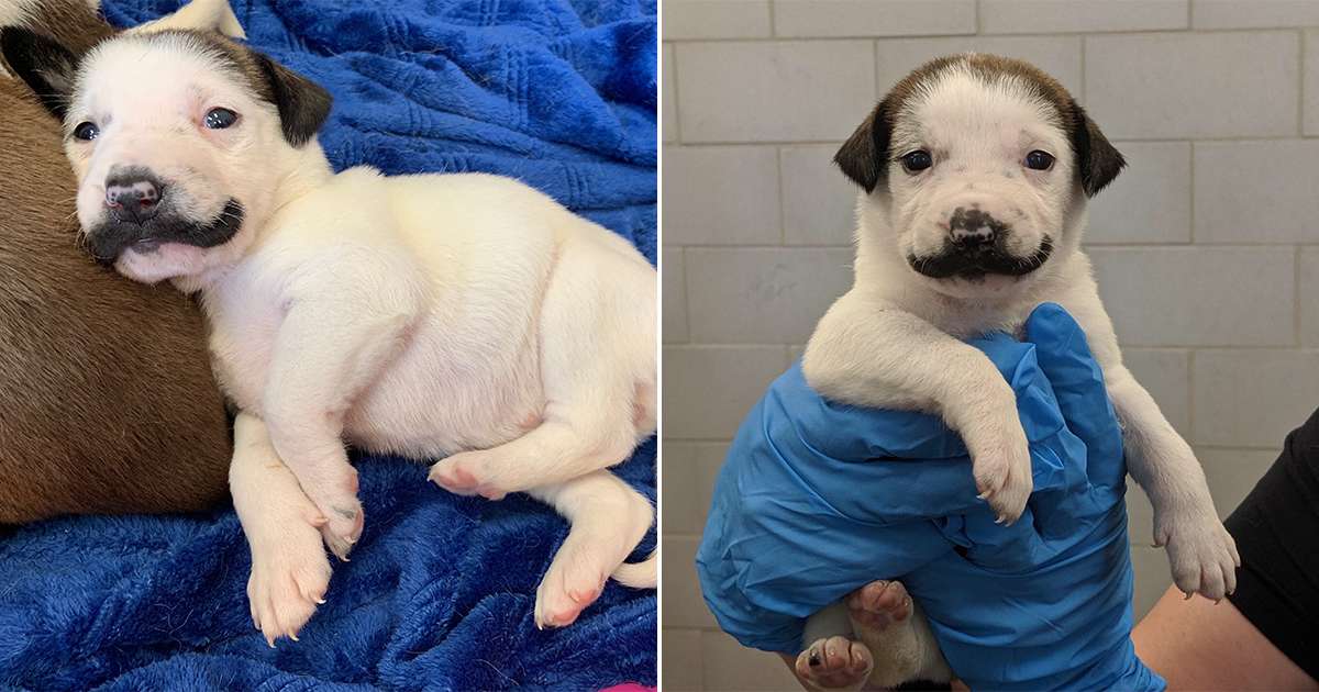
<svg viewBox="0 0 1319 692"><path fill-rule="evenodd" d="M931 256L907 256L911 269L931 278L983 279L988 274L1022 277L1043 266L1054 250L1047 235L1029 256L1012 254L1006 239L1012 227L977 208L958 207L948 219L948 237Z"/></svg>

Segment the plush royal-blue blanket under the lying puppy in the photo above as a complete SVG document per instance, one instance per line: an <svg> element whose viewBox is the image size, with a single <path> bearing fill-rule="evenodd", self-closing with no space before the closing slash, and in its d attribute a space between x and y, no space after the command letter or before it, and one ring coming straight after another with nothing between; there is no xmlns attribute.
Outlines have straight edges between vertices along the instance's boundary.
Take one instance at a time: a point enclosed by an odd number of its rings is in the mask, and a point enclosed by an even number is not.
<svg viewBox="0 0 1319 692"><path fill-rule="evenodd" d="M115 0L132 25L175 0ZM235 0L253 46L335 96L338 167L517 177L656 252L653 0ZM654 442L617 472L654 498ZM567 525L525 496L455 497L357 457L368 517L299 643L252 629L232 510L0 534L0 683L32 689L591 689L656 683L656 597L611 583L539 631ZM632 559L654 546L652 533Z"/></svg>

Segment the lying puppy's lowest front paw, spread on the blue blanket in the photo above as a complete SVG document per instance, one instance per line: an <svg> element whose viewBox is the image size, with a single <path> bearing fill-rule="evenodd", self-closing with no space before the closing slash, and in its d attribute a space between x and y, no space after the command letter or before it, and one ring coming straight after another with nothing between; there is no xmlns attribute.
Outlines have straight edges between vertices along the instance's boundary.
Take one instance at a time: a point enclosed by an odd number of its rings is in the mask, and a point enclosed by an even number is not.
<svg viewBox="0 0 1319 692"><path fill-rule="evenodd" d="M248 605L252 623L265 641L288 637L298 641L298 630L324 602L330 587L330 559L321 547L314 527L290 530L278 542L252 547L252 575L248 577ZM310 530L306 530L310 529Z"/></svg>

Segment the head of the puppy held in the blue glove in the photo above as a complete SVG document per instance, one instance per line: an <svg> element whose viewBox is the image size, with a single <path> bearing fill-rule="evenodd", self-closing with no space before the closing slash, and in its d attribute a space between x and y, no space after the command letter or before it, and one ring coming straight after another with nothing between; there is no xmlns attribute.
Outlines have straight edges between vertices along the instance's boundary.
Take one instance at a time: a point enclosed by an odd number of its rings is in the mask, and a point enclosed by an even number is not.
<svg viewBox="0 0 1319 692"><path fill-rule="evenodd" d="M1057 80L981 54L917 69L834 159L867 192L881 237L861 241L958 298L1010 294L1072 252L1086 198L1125 165Z"/></svg>

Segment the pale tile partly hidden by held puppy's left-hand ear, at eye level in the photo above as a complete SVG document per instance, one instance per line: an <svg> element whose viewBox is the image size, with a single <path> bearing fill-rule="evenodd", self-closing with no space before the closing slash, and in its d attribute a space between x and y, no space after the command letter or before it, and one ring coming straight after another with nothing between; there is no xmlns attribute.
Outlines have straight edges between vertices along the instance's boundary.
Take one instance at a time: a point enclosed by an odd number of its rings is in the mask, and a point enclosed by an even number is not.
<svg viewBox="0 0 1319 692"><path fill-rule="evenodd" d="M851 245L860 191L834 165L838 144L783 146L783 241L789 245Z"/></svg>

